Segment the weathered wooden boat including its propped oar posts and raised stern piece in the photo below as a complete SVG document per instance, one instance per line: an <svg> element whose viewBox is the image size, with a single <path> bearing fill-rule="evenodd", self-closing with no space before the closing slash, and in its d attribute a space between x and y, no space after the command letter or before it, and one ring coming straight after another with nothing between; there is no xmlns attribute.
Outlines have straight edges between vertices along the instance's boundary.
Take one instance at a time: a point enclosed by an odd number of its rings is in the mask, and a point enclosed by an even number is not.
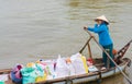
<svg viewBox="0 0 132 84"><path fill-rule="evenodd" d="M90 46L89 46L89 41L90 41L91 38L92 37L90 37L88 39L86 45L79 51L81 53L82 50L86 48L86 46L88 46L88 51L90 53L90 58L92 58L91 57L91 51L90 51ZM97 81L97 80L101 80L101 79L105 79L105 77L108 77L108 76L119 74L122 71L124 71L128 65L131 64L131 60L129 58L123 58L123 56L124 56L125 51L128 50L131 43L132 43L132 40L129 41L122 49L120 49L117 52L116 62L117 62L118 67L101 70L101 68L103 65L102 58L94 58L94 63L95 63L94 65L98 69L98 71L89 72L89 73L86 73L86 74L79 74L79 75L72 75L72 76L65 76L65 77L59 77L59 79L46 80L46 81L42 81L42 82L37 82L37 83L31 83L31 84L78 84L78 83ZM11 72L11 69L0 70L0 75L4 75L8 79L6 81L6 84L14 84L14 83L12 83L12 81L9 76L10 72Z"/></svg>

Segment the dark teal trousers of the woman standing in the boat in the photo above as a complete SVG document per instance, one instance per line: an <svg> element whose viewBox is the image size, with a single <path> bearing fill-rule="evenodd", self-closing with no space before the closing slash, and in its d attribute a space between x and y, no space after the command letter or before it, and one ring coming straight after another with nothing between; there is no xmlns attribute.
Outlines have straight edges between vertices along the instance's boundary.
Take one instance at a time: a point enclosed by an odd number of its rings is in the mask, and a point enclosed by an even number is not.
<svg viewBox="0 0 132 84"><path fill-rule="evenodd" d="M113 49L113 44L111 45L108 45L108 46L102 46L105 48L105 50L110 55L110 57L112 59L114 59L114 56L112 53L112 49ZM103 59L103 62L105 62L105 67L106 68L112 68L114 67L114 63L109 59L109 57L106 55L106 52L102 52L102 59Z"/></svg>

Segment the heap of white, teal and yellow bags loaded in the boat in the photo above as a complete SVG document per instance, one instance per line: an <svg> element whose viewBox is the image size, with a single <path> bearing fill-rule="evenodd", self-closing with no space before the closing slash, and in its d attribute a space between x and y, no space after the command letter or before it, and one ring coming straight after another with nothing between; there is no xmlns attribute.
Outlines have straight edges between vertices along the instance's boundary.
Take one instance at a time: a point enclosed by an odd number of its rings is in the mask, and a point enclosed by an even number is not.
<svg viewBox="0 0 132 84"><path fill-rule="evenodd" d="M16 84L36 83L46 80L65 77L70 75L79 75L88 73L88 65L92 62L87 62L86 57L76 53L68 58L58 56L55 60L37 60L30 62L25 67L22 64L15 65L10 77Z"/></svg>

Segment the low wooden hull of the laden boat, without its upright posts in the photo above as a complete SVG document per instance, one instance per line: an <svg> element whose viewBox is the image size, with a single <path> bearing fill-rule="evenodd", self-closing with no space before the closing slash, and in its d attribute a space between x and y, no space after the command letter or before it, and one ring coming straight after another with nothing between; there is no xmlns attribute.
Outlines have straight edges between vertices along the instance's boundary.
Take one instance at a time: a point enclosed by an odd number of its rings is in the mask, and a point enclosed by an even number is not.
<svg viewBox="0 0 132 84"><path fill-rule="evenodd" d="M100 70L103 65L101 59L94 59L95 65L98 68L99 71L89 72L88 74L80 74L80 75L73 75L73 76L65 76L54 80L47 80L43 82L38 82L36 84L78 84L78 83L86 83L91 81L101 80L108 76L112 76L119 74L121 71L118 68L110 68L108 70ZM128 65L130 65L131 60L128 58L123 58L119 64L119 68L124 71ZM8 81L6 84L14 84L12 83L11 79L9 77L11 69L0 70L0 75L7 76ZM32 83L35 84L35 83Z"/></svg>

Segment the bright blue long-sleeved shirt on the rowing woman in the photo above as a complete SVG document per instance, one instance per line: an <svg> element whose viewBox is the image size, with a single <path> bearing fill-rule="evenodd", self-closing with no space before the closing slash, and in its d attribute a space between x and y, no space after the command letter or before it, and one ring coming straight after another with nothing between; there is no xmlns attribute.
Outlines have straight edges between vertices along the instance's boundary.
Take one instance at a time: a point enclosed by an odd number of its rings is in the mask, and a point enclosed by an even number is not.
<svg viewBox="0 0 132 84"><path fill-rule="evenodd" d="M109 28L108 28L108 26L105 23L102 23L100 25L95 24L95 27L94 28L88 27L88 31L95 32L95 33L98 34L98 36L99 36L99 44L101 46L108 46L108 45L113 44L112 39L110 37L110 34L109 34Z"/></svg>

